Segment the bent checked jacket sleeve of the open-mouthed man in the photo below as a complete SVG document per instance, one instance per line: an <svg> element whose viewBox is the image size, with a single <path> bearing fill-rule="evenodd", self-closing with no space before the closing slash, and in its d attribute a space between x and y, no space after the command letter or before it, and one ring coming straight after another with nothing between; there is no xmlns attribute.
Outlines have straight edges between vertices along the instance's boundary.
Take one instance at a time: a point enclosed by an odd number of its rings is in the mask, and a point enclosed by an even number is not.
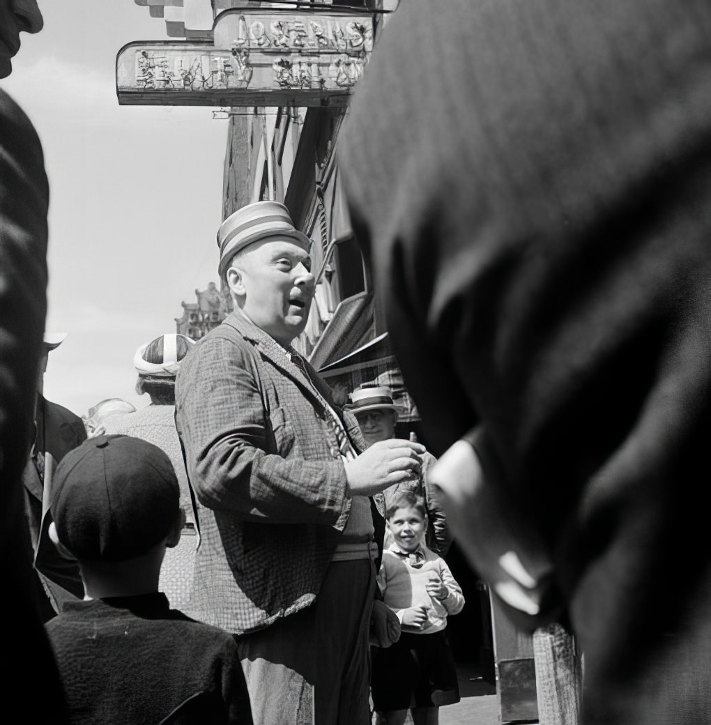
<svg viewBox="0 0 711 725"><path fill-rule="evenodd" d="M344 464L285 457L294 431L265 410L254 360L214 337L183 360L175 422L202 505L245 521L316 523L343 530L350 510Z"/></svg>

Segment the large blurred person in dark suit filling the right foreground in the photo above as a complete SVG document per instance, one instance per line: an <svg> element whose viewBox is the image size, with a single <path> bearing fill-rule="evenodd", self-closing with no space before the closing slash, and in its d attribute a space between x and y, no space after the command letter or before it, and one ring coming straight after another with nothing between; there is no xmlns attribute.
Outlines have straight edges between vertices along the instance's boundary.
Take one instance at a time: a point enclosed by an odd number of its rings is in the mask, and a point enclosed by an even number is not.
<svg viewBox="0 0 711 725"><path fill-rule="evenodd" d="M706 1L408 0L339 141L447 521L588 724L711 721L710 88Z"/></svg>

